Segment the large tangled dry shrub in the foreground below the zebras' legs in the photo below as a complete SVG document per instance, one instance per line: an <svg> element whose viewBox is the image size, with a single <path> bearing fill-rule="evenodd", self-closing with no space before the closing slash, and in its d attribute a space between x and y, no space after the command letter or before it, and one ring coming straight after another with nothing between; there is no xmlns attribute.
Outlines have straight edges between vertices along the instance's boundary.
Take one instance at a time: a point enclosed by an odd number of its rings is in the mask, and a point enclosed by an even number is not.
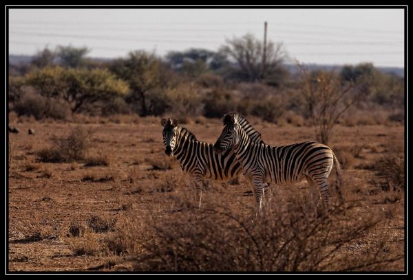
<svg viewBox="0 0 413 280"><path fill-rule="evenodd" d="M151 219L152 235L134 254L134 270L385 271L403 259L403 245L390 246L377 231L377 211L348 204L315 215L293 202L283 212L269 200L255 218L220 207L222 200L217 196L198 209L176 197L172 216Z"/></svg>

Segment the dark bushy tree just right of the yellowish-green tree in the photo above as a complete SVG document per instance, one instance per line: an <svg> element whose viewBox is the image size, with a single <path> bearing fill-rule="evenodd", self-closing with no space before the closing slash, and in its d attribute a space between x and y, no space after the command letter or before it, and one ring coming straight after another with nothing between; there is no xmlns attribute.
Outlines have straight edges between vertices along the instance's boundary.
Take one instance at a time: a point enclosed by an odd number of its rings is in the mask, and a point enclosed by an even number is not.
<svg viewBox="0 0 413 280"><path fill-rule="evenodd" d="M112 62L110 70L128 82L131 89L126 101L136 104L142 116L151 115L153 102L157 102L159 89L167 88L171 72L154 54L146 51L131 51L127 58Z"/></svg>

